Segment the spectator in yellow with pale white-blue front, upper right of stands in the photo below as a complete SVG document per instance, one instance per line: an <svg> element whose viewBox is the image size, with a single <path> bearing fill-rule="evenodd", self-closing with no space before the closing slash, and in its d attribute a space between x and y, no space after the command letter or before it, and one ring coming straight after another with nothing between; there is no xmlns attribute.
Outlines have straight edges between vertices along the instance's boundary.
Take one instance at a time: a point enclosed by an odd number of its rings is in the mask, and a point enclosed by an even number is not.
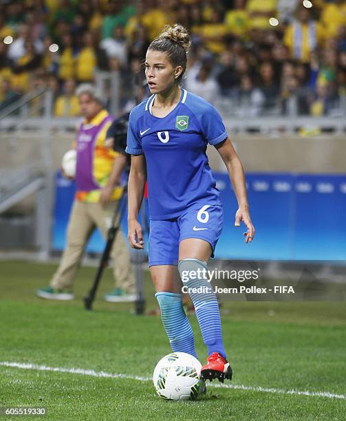
<svg viewBox="0 0 346 421"><path fill-rule="evenodd" d="M283 42L290 50L292 58L308 63L310 53L322 44L324 30L321 23L312 19L310 9L299 5L296 19L285 30Z"/></svg>

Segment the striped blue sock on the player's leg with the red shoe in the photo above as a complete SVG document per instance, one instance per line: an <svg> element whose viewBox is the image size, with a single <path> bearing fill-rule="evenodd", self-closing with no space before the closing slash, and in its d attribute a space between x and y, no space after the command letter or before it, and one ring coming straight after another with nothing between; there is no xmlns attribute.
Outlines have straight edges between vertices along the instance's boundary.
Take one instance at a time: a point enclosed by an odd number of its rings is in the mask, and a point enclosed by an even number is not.
<svg viewBox="0 0 346 421"><path fill-rule="evenodd" d="M198 259L184 259L180 261L178 269L195 307L203 341L208 348L208 356L213 352L218 352L227 358L222 340L219 305L213 287L206 277L206 270L208 270L206 263ZM195 274L190 276L192 271L197 273L197 277ZM191 291L191 288L201 287L202 292Z"/></svg>

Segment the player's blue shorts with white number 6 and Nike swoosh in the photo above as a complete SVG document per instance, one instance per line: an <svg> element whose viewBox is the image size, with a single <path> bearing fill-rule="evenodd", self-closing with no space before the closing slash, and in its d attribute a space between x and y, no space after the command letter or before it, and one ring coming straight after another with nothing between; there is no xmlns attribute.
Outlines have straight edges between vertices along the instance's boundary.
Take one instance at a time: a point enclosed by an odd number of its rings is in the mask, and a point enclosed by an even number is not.
<svg viewBox="0 0 346 421"><path fill-rule="evenodd" d="M177 265L179 244L186 238L208 241L213 249L221 234L224 213L219 204L194 204L174 219L150 221L149 266Z"/></svg>

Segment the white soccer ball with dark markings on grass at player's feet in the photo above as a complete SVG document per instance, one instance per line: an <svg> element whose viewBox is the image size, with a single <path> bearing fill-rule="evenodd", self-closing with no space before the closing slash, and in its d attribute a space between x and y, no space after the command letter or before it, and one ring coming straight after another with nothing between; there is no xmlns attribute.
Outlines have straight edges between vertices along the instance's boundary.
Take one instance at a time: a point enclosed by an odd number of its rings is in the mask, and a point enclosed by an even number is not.
<svg viewBox="0 0 346 421"><path fill-rule="evenodd" d="M202 365L185 352L173 352L161 358L155 367L153 382L158 395L169 400L195 400L204 391L199 380Z"/></svg>

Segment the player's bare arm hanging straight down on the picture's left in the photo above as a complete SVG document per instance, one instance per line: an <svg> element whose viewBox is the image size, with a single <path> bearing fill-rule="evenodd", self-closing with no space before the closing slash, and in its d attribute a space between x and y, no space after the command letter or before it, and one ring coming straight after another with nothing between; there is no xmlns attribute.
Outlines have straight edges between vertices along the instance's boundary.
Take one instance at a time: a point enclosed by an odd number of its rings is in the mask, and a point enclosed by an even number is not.
<svg viewBox="0 0 346 421"><path fill-rule="evenodd" d="M131 169L129 175L129 214L128 237L132 248L143 248L142 227L138 222L138 213L144 195L146 180L146 167L144 155L131 155Z"/></svg>

